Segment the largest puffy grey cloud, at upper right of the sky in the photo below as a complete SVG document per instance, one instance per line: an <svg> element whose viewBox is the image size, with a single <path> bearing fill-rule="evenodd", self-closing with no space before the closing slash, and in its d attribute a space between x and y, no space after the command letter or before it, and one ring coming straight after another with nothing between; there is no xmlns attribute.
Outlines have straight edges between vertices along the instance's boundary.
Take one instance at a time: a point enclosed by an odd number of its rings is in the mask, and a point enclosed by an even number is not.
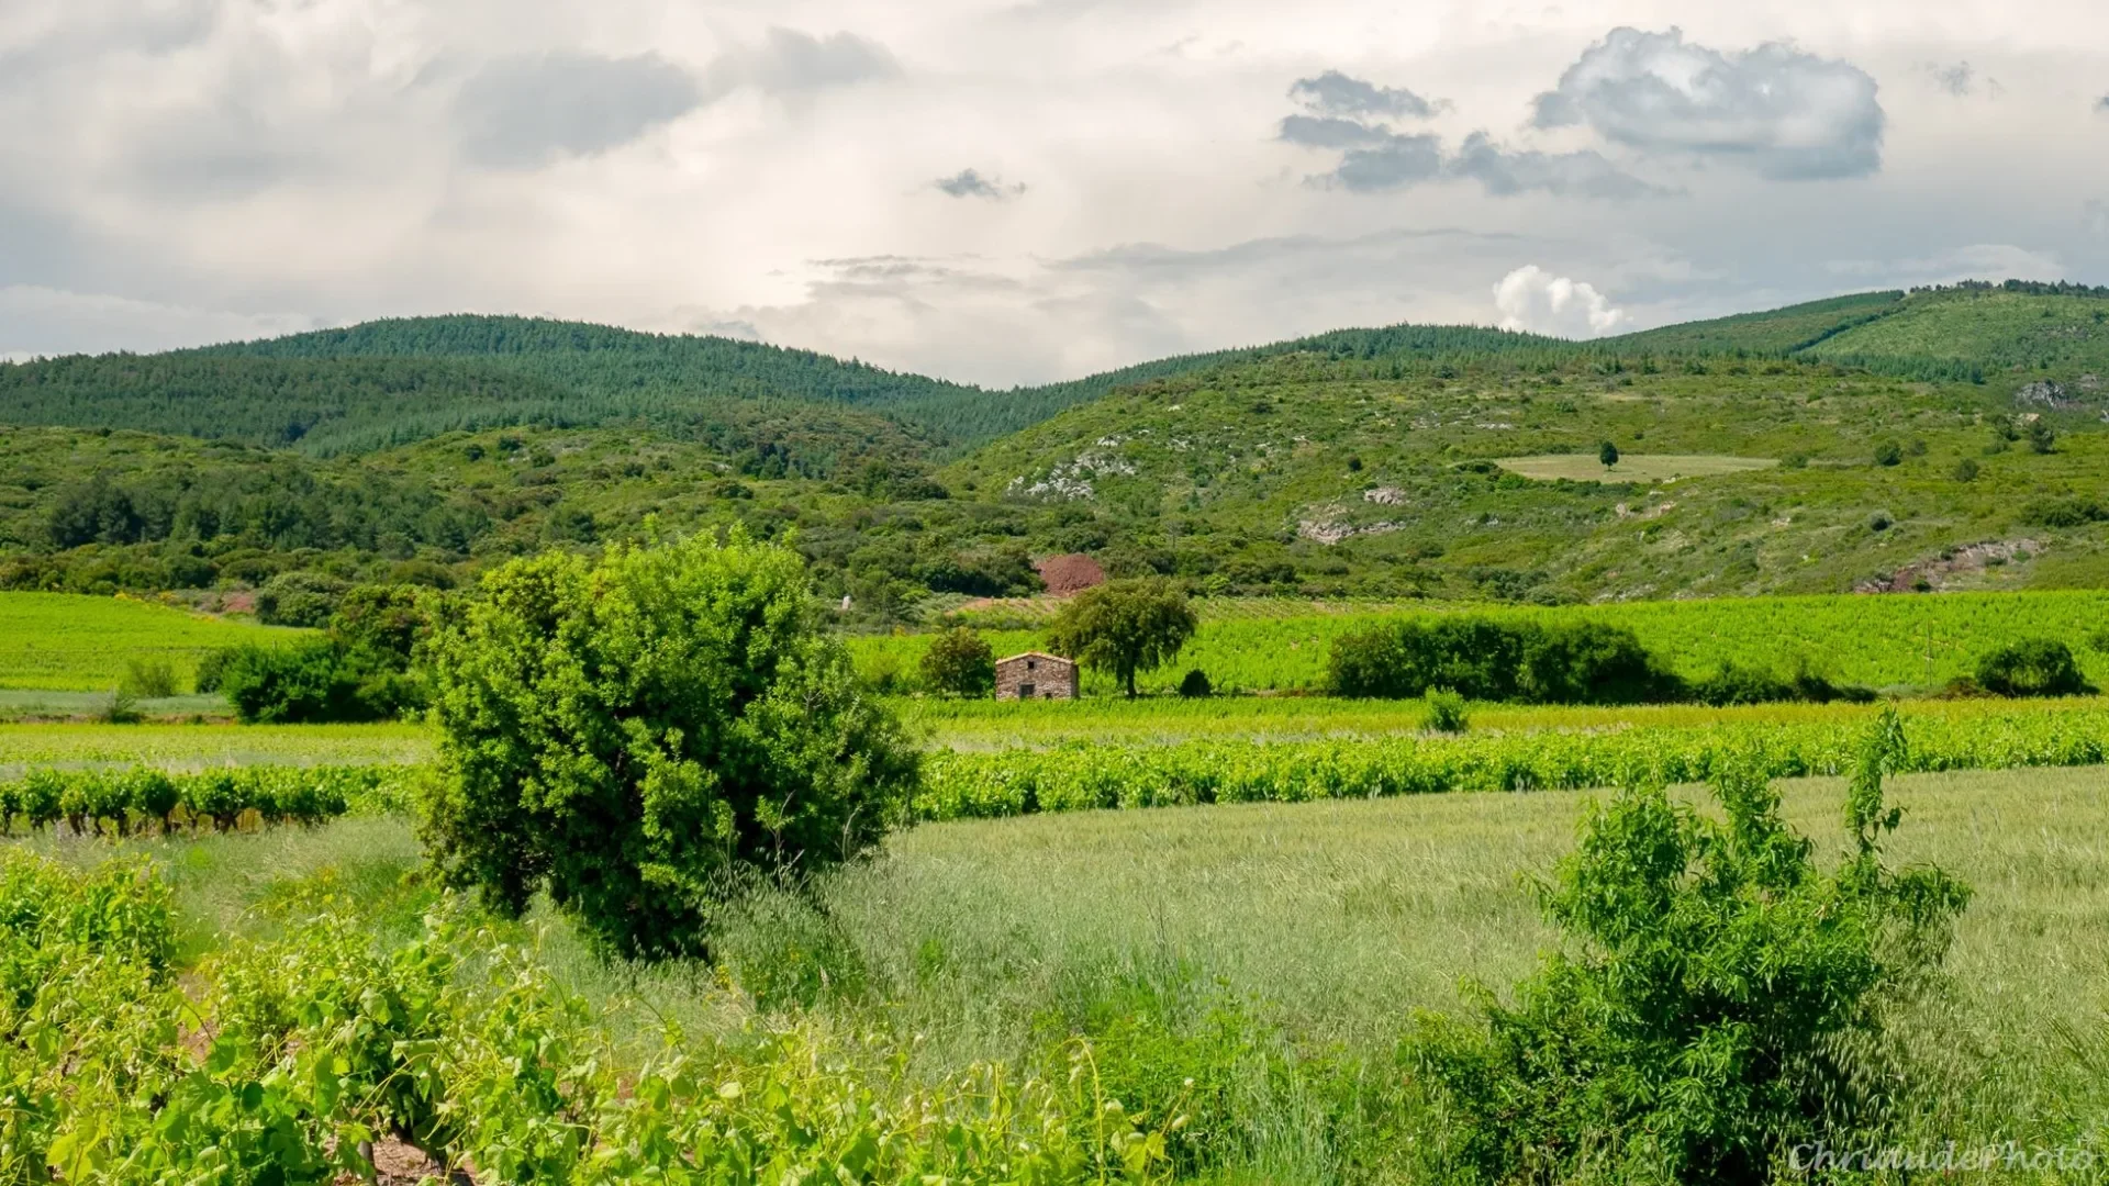
<svg viewBox="0 0 2109 1186"><path fill-rule="evenodd" d="M1881 169L1875 78L1850 61L1767 42L1719 53L1681 30L1618 27L1537 95L1542 129L1586 125L1641 152L1738 160L1772 179Z"/></svg>

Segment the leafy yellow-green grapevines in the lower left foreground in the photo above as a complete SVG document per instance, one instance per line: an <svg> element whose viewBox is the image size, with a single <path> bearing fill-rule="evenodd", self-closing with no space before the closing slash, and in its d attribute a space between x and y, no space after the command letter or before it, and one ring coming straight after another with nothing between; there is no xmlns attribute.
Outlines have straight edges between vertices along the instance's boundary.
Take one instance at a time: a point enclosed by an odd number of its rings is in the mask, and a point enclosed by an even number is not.
<svg viewBox="0 0 2109 1186"><path fill-rule="evenodd" d="M447 914L407 945L297 918L221 950L192 1000L150 865L0 861L6 1182L325 1184L371 1178L375 1146L485 1182L1164 1178L1173 1118L1109 1114L1090 1074L871 1083L854 1040L808 1030L755 1032L736 1061L666 1032L639 1059L529 952Z"/></svg>

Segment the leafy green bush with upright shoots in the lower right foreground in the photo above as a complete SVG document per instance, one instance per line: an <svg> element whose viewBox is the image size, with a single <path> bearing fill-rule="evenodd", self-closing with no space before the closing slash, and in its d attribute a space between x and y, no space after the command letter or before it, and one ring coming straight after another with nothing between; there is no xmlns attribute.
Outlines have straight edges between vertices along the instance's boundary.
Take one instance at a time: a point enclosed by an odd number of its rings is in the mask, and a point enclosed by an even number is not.
<svg viewBox="0 0 2109 1186"><path fill-rule="evenodd" d="M1440 1106L1440 1171L1759 1186L1795 1142L1877 1133L1900 1074L1877 1038L1970 901L1938 869L1883 861L1900 737L1883 715L1866 739L1856 853L1835 872L1744 762L1715 774L1721 821L1660 787L1592 812L1540 884L1571 948L1512 1002L1481 990L1478 1026L1432 1017L1411 1045Z"/></svg>

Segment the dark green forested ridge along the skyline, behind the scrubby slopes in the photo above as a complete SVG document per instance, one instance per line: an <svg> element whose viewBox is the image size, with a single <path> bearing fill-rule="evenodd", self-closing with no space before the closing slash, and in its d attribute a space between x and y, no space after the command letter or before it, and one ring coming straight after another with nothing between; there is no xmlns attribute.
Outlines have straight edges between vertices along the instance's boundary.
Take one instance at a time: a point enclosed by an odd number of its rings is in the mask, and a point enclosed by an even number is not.
<svg viewBox="0 0 2109 1186"><path fill-rule="evenodd" d="M1544 371L1645 369L1653 359L1702 374L1704 359L1719 357L2082 386L2109 374L2109 289L2008 281L1858 293L1597 342L1485 327L1341 329L1012 390L730 338L422 317L169 355L0 365L0 424L133 428L314 456L491 426L633 424L825 477L867 458L960 458L1116 388L1284 357L1369 363L1388 378L1489 361Z"/></svg>

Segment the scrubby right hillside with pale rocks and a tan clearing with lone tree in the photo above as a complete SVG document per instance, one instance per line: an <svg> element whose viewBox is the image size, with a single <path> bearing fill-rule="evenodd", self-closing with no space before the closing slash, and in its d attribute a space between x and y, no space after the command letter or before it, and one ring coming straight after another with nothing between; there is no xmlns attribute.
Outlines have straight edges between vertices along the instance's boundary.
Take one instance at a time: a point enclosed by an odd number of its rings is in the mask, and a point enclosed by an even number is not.
<svg viewBox="0 0 2109 1186"><path fill-rule="evenodd" d="M2096 412L2039 412L2058 435L2035 454L2006 439L2029 412L1982 384L1647 359L1489 359L1394 380L1299 357L1116 393L941 477L962 496L1065 509L1114 568L1219 591L1559 601L2092 585L2109 576L2090 502L2109 479ZM1620 468L1594 460L1603 441L1626 454ZM1514 473L1563 466L1594 479Z"/></svg>

